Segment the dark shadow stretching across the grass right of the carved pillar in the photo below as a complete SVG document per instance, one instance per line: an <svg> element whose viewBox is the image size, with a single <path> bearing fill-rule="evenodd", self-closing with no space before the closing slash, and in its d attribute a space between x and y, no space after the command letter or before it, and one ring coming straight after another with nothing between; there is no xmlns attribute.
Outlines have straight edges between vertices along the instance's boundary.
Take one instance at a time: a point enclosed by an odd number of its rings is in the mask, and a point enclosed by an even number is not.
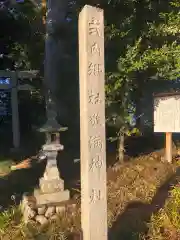
<svg viewBox="0 0 180 240"><path fill-rule="evenodd" d="M147 223L152 214L159 211L168 198L171 187L178 182L180 169L171 176L157 191L151 204L141 201L129 203L124 212L109 229L109 240L139 240L141 234L146 234Z"/></svg>

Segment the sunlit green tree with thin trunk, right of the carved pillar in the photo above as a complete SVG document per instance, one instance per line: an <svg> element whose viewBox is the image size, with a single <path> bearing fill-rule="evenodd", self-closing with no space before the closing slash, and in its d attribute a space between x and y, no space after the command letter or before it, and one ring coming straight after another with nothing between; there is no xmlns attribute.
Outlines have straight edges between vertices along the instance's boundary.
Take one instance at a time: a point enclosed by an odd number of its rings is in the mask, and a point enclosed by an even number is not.
<svg viewBox="0 0 180 240"><path fill-rule="evenodd" d="M130 11L123 9L127 14L122 14L124 20L119 17L121 23L116 20L106 27L110 45L116 51L116 44L123 47L119 47L117 60L115 55L109 60L114 57L117 69L110 69L106 85L108 120L112 123L113 119L117 128L120 160L124 134L129 133L129 109L134 110L136 117L140 115L139 102L146 82L180 76L179 1L119 1L115 7L120 10L122 2Z"/></svg>

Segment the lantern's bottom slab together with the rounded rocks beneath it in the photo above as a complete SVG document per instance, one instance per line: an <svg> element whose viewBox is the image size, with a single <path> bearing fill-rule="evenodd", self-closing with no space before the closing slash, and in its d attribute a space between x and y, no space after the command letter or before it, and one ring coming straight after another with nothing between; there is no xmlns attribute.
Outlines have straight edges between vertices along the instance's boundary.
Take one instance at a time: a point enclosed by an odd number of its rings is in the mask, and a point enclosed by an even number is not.
<svg viewBox="0 0 180 240"><path fill-rule="evenodd" d="M51 194L41 193L35 190L34 195L24 195L21 202L21 210L25 224L34 221L41 225L49 220L56 220L67 210L74 210L75 203L70 203L69 191L61 191Z"/></svg>

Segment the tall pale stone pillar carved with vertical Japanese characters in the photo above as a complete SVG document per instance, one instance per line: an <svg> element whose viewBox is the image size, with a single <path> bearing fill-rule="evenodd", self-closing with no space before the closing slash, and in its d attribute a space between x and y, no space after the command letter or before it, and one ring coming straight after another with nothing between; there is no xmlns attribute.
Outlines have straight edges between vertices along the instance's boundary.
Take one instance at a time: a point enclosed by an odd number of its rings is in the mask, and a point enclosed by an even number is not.
<svg viewBox="0 0 180 240"><path fill-rule="evenodd" d="M79 15L81 223L84 240L107 240L103 10Z"/></svg>

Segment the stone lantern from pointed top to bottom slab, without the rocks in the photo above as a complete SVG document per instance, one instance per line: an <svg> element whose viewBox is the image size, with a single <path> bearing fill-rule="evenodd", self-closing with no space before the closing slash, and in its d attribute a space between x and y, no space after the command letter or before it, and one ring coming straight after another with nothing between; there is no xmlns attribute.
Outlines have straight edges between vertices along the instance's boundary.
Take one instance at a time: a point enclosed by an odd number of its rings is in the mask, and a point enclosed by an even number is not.
<svg viewBox="0 0 180 240"><path fill-rule="evenodd" d="M64 149L60 143L60 132L66 131L56 120L56 111L53 101L49 98L47 103L47 122L39 131L46 136L46 142L42 146L42 151L47 157L47 165L44 176L39 182L39 191L36 195L37 205L55 204L69 200L69 191L64 190L64 181L60 178L57 167L57 155ZM37 191L36 191L37 193Z"/></svg>

